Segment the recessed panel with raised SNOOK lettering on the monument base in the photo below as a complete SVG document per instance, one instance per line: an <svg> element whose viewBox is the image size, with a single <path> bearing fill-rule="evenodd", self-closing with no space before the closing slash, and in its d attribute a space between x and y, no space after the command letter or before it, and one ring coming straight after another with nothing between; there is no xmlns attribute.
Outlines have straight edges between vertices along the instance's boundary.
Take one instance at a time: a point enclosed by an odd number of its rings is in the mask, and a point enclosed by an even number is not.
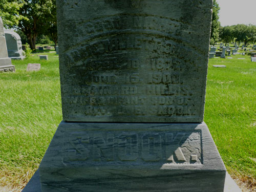
<svg viewBox="0 0 256 192"><path fill-rule="evenodd" d="M64 150L67 162L202 164L200 132L73 132Z"/></svg>

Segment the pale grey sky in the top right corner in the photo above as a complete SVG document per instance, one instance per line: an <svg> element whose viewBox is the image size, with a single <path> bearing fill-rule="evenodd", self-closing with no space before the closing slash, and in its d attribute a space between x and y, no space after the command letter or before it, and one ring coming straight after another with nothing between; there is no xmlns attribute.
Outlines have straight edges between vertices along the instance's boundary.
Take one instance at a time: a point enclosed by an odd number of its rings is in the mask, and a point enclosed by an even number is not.
<svg viewBox="0 0 256 192"><path fill-rule="evenodd" d="M221 26L256 25L256 0L217 0Z"/></svg>

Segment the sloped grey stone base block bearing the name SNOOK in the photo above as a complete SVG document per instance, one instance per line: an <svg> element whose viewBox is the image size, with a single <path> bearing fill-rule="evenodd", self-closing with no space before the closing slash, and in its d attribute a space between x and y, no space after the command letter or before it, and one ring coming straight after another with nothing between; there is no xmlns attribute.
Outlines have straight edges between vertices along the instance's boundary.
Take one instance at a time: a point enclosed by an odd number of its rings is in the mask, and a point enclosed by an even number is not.
<svg viewBox="0 0 256 192"><path fill-rule="evenodd" d="M61 122L42 191L218 191L226 169L205 123Z"/></svg>

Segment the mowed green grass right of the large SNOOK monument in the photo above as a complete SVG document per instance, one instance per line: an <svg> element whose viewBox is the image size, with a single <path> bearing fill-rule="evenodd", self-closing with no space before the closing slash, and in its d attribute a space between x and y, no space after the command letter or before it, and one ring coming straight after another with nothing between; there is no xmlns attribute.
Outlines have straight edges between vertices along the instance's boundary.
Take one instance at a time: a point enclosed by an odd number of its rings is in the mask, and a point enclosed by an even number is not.
<svg viewBox="0 0 256 192"><path fill-rule="evenodd" d="M209 59L204 121L228 172L256 191L256 62L230 57Z"/></svg>

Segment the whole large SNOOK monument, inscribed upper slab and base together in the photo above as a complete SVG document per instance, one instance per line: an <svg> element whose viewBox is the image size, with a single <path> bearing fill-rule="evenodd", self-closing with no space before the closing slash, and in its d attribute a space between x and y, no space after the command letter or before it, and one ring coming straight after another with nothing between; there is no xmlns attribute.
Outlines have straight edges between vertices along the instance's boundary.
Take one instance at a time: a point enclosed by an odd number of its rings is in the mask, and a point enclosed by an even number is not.
<svg viewBox="0 0 256 192"><path fill-rule="evenodd" d="M63 121L41 190L223 191L203 123L212 1L56 3Z"/></svg>

